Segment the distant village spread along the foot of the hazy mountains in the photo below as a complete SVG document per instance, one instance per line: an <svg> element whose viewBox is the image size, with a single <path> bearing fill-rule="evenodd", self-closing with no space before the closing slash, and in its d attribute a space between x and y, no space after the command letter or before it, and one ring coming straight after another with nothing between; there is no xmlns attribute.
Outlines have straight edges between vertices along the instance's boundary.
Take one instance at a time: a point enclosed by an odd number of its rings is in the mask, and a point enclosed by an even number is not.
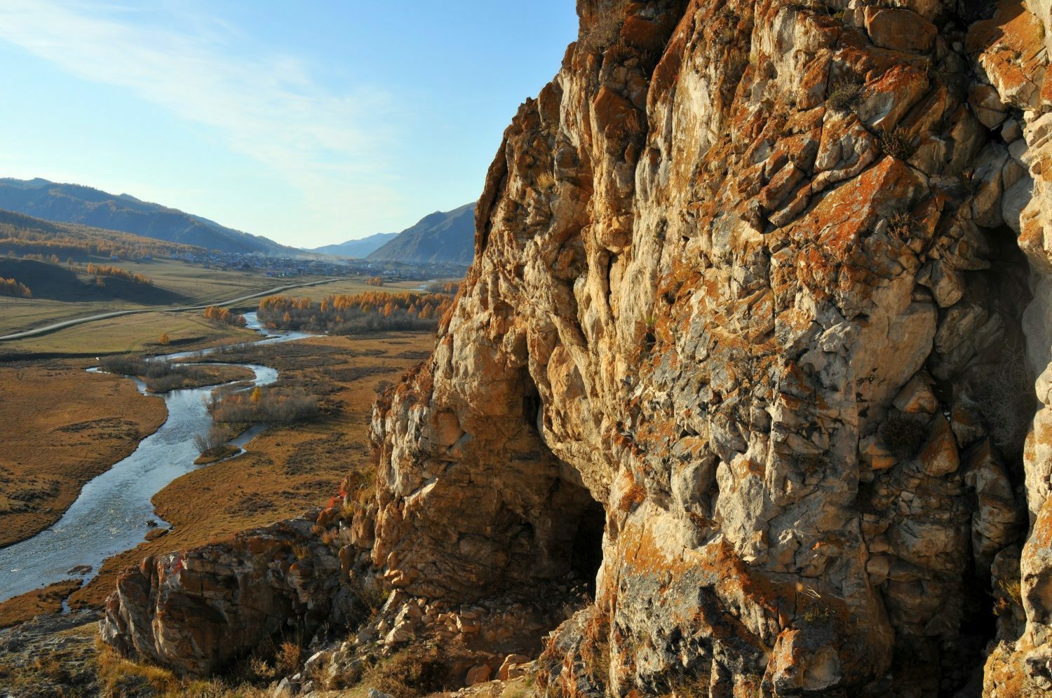
<svg viewBox="0 0 1052 698"><path fill-rule="evenodd" d="M431 279L459 279L467 271L461 264L413 263L357 260L332 255L264 256L258 253L191 251L174 254L182 260L206 268L232 271L255 271L275 279L290 276L380 276L387 281L427 281Z"/></svg>

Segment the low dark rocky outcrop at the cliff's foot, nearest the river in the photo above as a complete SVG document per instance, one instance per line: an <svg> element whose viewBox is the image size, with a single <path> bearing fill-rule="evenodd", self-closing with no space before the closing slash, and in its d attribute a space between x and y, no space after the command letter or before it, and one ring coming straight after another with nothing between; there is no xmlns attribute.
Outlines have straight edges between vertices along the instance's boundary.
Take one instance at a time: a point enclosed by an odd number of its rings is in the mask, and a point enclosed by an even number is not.
<svg viewBox="0 0 1052 698"><path fill-rule="evenodd" d="M208 674L263 640L310 638L360 614L340 560L297 518L127 569L100 621L103 641L180 672Z"/></svg>

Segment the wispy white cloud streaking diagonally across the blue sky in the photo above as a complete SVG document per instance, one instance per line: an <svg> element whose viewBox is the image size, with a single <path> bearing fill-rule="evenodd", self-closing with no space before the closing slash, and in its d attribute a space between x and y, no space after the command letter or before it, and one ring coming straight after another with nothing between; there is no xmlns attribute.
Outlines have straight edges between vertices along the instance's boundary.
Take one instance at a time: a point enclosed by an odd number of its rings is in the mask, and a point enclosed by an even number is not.
<svg viewBox="0 0 1052 698"><path fill-rule="evenodd" d="M84 80L118 85L203 124L299 189L320 215L340 192L392 202L378 163L390 144L391 100L359 85L326 89L297 57L245 50L236 27L169 7L159 16L114 2L3 0L0 40Z"/></svg>

